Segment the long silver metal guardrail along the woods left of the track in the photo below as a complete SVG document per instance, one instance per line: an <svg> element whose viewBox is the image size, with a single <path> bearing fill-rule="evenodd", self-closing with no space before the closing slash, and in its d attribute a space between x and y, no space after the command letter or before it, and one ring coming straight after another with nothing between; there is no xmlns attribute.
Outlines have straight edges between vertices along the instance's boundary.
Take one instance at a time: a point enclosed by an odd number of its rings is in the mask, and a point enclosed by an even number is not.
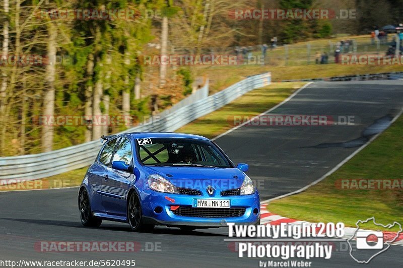
<svg viewBox="0 0 403 268"><path fill-rule="evenodd" d="M136 126L124 132L166 131L172 132L187 123L205 116L246 92L271 83L271 73L250 76L214 95L208 96L209 84L199 89L198 96L181 101L178 106L164 111L160 116L146 124ZM97 155L101 143L99 140L66 147L51 152L0 157L0 180L34 180L72 171L90 165Z"/></svg>

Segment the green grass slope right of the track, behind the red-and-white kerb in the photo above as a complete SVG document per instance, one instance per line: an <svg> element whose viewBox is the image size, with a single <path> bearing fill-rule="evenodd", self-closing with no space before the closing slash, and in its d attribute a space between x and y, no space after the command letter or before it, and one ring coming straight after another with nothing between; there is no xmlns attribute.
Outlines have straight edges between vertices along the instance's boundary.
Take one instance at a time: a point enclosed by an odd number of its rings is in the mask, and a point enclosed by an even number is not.
<svg viewBox="0 0 403 268"><path fill-rule="evenodd" d="M344 222L350 227L356 227L357 220L370 217L375 217L376 222L383 225L394 221L403 223L401 188L353 190L338 189L340 187L335 186L340 179L399 179L402 182L401 133L403 116L338 171L300 194L271 202L267 206L268 210L292 219ZM373 225L366 228L377 229ZM397 230L393 228L393 231Z"/></svg>

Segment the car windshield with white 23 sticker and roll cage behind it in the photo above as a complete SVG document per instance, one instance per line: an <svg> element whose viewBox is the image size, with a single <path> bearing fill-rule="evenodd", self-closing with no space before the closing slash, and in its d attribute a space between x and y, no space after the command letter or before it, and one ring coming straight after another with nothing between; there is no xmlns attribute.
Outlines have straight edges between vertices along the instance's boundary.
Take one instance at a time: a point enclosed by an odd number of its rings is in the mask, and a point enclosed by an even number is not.
<svg viewBox="0 0 403 268"><path fill-rule="evenodd" d="M232 168L211 141L185 138L137 139L137 153L145 166Z"/></svg>

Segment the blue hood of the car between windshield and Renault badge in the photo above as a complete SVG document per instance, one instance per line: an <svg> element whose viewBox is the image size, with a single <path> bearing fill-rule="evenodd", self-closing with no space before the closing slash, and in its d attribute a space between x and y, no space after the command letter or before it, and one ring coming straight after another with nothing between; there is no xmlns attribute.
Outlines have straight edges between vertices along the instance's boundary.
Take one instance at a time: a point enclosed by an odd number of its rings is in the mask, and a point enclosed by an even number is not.
<svg viewBox="0 0 403 268"><path fill-rule="evenodd" d="M146 167L150 174L158 174L177 187L206 189L211 185L216 189L241 187L245 174L237 168L199 167Z"/></svg>

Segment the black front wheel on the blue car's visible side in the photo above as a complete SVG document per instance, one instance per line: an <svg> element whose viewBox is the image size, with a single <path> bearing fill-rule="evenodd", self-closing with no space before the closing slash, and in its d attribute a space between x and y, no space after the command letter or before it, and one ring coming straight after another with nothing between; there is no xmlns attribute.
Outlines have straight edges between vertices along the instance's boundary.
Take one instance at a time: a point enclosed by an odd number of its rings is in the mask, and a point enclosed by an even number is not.
<svg viewBox="0 0 403 268"><path fill-rule="evenodd" d="M141 201L137 193L133 192L127 203L127 221L132 232L151 232L154 225L143 223Z"/></svg>

